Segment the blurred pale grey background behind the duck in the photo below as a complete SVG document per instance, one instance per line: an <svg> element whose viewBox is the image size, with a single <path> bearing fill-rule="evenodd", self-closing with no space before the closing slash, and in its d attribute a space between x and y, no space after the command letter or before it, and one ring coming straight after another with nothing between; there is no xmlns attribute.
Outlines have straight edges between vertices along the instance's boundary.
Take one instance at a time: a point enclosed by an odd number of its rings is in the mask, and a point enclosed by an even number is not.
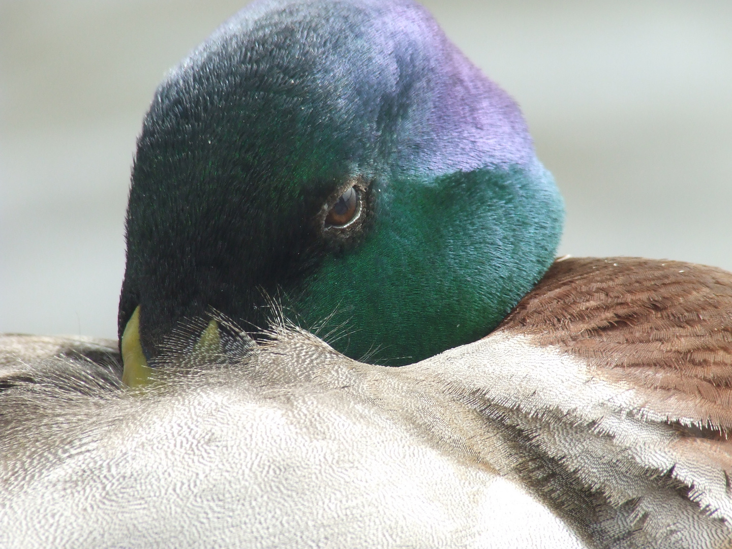
<svg viewBox="0 0 732 549"><path fill-rule="evenodd" d="M116 337L143 113L244 3L0 0L0 332ZM560 253L732 270L731 1L424 3L521 105Z"/></svg>

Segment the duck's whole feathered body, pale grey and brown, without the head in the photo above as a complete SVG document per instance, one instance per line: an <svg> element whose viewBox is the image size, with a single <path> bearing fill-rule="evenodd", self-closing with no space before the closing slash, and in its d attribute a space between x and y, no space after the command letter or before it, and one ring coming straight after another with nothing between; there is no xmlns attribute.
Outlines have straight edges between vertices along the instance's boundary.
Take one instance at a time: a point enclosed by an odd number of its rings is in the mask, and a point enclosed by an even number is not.
<svg viewBox="0 0 732 549"><path fill-rule="evenodd" d="M400 368L286 329L168 356L143 394L26 361L3 545L726 547L731 331L727 272L569 259L488 337Z"/></svg>

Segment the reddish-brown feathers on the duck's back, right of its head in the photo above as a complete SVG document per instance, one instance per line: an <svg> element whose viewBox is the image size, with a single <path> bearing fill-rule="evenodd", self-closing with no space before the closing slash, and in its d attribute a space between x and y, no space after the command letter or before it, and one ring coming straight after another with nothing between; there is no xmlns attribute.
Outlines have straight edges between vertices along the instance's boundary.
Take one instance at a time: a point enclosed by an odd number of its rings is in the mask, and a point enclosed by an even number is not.
<svg viewBox="0 0 732 549"><path fill-rule="evenodd" d="M498 330L564 348L597 376L647 391L670 422L690 417L695 435L726 439L732 430L730 272L680 261L568 258Z"/></svg>

